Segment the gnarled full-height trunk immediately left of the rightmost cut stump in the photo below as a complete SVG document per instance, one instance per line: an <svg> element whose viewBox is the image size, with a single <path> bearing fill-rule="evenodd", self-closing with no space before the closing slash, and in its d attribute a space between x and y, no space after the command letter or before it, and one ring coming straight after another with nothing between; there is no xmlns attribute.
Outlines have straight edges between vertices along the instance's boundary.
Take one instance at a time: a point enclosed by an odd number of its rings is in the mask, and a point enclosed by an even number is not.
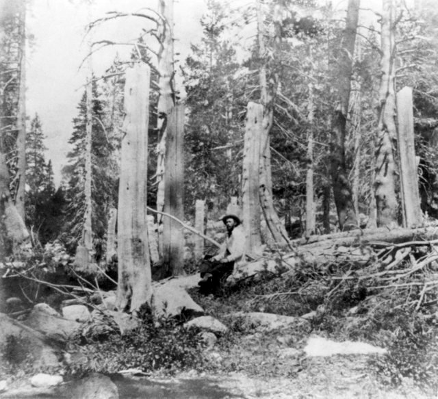
<svg viewBox="0 0 438 399"><path fill-rule="evenodd" d="M398 224L396 196L396 162L393 142L397 137L396 94L394 88L394 0L383 0L381 19L381 83L376 142L376 197L377 227Z"/></svg>

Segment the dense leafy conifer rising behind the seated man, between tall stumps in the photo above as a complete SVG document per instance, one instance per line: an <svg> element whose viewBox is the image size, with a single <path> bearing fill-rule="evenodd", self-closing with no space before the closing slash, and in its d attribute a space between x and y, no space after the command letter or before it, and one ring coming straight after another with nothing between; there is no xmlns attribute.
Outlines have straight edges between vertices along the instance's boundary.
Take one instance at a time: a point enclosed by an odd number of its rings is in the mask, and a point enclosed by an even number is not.
<svg viewBox="0 0 438 399"><path fill-rule="evenodd" d="M233 78L238 68L235 51L222 39L227 25L224 8L217 1L207 5L209 11L201 20L201 44L192 45L192 55L183 68L185 104L190 110L185 129L185 205L192 210L200 198L210 208L223 208L230 196L237 196L240 186L241 167L233 142L242 139L236 111L242 85Z"/></svg>

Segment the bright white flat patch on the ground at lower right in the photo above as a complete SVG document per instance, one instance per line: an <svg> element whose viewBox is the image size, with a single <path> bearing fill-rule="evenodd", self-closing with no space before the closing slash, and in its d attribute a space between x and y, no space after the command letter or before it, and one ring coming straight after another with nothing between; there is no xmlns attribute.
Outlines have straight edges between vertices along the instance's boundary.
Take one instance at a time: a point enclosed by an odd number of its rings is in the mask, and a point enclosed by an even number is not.
<svg viewBox="0 0 438 399"><path fill-rule="evenodd" d="M387 350L372 346L365 342L334 342L322 337L310 337L304 348L308 357L333 356L333 355L370 355L372 353L383 354Z"/></svg>

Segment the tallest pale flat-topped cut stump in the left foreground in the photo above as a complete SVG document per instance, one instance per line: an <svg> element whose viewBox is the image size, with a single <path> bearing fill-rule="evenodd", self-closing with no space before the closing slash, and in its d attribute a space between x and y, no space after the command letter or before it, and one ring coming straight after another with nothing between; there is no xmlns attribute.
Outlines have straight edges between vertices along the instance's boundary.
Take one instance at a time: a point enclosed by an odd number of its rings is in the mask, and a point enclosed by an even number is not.
<svg viewBox="0 0 438 399"><path fill-rule="evenodd" d="M146 219L150 68L126 72L125 121L118 192L118 308L151 305L151 265Z"/></svg>

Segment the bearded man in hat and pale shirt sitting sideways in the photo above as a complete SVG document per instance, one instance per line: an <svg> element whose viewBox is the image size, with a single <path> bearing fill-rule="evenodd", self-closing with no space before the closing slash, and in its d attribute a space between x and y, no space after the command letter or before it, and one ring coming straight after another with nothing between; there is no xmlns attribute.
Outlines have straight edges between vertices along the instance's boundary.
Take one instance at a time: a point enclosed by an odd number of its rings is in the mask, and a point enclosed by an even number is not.
<svg viewBox="0 0 438 399"><path fill-rule="evenodd" d="M218 255L206 257L200 268L201 278L198 285L203 294L218 294L220 285L233 272L235 266L243 263L245 258L245 233L242 222L235 215L222 218L227 227L227 238L220 246Z"/></svg>

